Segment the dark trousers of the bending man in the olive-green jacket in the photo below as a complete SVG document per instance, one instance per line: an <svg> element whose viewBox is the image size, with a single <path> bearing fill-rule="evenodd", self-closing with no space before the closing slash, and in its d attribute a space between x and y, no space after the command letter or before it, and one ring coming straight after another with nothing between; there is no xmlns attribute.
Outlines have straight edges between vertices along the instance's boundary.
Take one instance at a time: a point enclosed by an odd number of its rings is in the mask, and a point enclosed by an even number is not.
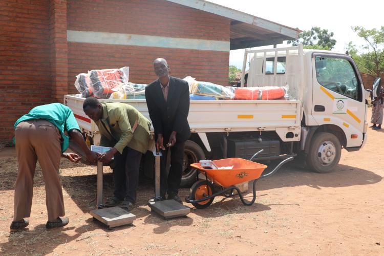
<svg viewBox="0 0 384 256"><path fill-rule="evenodd" d="M114 196L120 200L136 202L136 188L139 182L141 152L125 147L122 154L115 154L113 167Z"/></svg>

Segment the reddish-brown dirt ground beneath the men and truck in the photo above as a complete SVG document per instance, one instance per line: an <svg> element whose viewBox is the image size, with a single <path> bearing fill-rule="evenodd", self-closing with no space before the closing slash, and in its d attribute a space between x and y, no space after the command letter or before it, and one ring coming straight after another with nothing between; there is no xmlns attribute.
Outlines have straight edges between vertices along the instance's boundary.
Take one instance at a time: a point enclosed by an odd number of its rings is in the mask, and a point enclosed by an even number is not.
<svg viewBox="0 0 384 256"><path fill-rule="evenodd" d="M46 230L44 180L38 167L29 229L15 233L9 233L9 225L17 161L14 150L3 148L0 254L384 255L382 145L384 130L369 129L365 148L343 150L333 173L285 166L258 182L252 206L244 206L238 197L217 197L208 208L193 208L186 218L173 220L151 213L146 203L153 188L144 180L132 210L134 225L111 229L89 214L96 202L96 168L63 159L60 176L70 223ZM104 195L111 195L112 187L112 175L104 175ZM182 198L188 193L185 188L180 192Z"/></svg>

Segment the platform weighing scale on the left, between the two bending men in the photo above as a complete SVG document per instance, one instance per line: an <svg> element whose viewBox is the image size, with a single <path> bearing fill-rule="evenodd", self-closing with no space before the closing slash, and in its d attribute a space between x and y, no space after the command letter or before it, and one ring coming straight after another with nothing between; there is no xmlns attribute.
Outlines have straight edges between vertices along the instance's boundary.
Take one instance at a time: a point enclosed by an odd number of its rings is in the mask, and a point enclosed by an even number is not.
<svg viewBox="0 0 384 256"><path fill-rule="evenodd" d="M108 151L108 147L91 146L91 150L98 153ZM91 210L91 215L94 219L107 225L108 227L117 227L127 224L132 224L136 220L136 216L130 212L115 206L104 208L103 204L103 163L97 162L97 203L96 209Z"/></svg>

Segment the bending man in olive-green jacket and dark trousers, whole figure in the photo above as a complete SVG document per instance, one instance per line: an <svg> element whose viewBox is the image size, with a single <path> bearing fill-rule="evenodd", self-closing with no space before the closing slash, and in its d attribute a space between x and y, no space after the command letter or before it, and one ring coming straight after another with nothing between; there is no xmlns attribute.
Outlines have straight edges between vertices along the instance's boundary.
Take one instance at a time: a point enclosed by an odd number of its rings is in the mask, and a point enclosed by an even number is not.
<svg viewBox="0 0 384 256"><path fill-rule="evenodd" d="M83 110L99 128L100 146L112 147L100 161L108 163L115 158L114 196L105 205L116 206L123 200L121 208L131 210L136 202L141 155L151 139L151 122L131 105L100 103L94 97L84 100Z"/></svg>

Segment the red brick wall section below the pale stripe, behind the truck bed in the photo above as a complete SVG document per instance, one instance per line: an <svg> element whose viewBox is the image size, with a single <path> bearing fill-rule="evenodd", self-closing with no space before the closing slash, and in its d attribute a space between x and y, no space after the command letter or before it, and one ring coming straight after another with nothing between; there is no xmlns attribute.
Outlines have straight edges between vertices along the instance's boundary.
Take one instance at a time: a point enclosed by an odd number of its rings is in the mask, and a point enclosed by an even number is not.
<svg viewBox="0 0 384 256"><path fill-rule="evenodd" d="M228 83L229 53L69 42L69 93L78 93L73 85L75 76L92 69L129 66L131 82L150 83L157 79L152 63L158 57L167 60L173 76L184 78L190 75L200 81L224 86Z"/></svg>

